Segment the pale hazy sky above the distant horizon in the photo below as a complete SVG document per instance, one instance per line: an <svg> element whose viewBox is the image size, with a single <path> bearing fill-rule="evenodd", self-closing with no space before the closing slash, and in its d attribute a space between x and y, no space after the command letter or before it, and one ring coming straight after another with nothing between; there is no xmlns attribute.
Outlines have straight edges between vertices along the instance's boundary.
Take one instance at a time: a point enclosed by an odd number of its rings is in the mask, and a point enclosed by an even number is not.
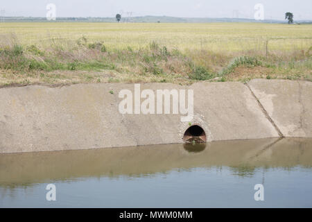
<svg viewBox="0 0 312 222"><path fill-rule="evenodd" d="M265 19L312 19L312 0L0 0L1 15L45 17L46 5L54 3L57 17L123 17L166 15L173 17L253 18L254 5L262 3ZM4 12L3 12L4 10Z"/></svg>

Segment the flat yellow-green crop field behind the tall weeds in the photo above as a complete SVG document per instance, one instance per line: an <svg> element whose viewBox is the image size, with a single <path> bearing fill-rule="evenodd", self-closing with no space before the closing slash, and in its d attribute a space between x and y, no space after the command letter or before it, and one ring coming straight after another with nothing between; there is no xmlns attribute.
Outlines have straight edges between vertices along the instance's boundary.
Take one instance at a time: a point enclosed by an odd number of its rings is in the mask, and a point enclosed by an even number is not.
<svg viewBox="0 0 312 222"><path fill-rule="evenodd" d="M1 23L0 33L15 33L22 45L50 46L51 40L101 42L110 49L139 49L150 42L168 49L205 49L214 52L305 49L311 46L312 25L210 23L210 24L116 24L116 23Z"/></svg>

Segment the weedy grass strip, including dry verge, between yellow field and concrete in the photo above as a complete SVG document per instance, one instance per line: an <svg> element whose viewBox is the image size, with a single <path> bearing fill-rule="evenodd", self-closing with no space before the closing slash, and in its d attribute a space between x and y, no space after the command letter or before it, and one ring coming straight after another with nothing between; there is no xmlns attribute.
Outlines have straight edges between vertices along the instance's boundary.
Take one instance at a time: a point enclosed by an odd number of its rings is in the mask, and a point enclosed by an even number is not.
<svg viewBox="0 0 312 222"><path fill-rule="evenodd" d="M288 44L285 44L286 49L276 44L270 46L268 39L252 48L247 39L241 50L236 50L235 40L232 40L225 51L202 46L202 43L200 48L180 49L157 40L141 46L112 46L112 42L90 40L86 36L73 40L50 37L44 44L22 44L17 40L20 36L2 35L0 86L107 82L189 84L251 78L312 80L309 37L303 38L300 46L294 44L293 49ZM214 41L220 44L217 39ZM229 47L231 44L233 48Z"/></svg>

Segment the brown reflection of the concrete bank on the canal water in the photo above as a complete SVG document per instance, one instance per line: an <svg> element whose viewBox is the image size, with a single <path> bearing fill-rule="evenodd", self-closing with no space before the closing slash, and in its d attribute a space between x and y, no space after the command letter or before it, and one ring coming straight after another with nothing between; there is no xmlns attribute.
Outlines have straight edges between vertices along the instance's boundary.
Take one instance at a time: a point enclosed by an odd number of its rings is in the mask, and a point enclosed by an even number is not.
<svg viewBox="0 0 312 222"><path fill-rule="evenodd" d="M291 171L312 166L312 139L257 139L171 144L87 151L0 155L0 186L29 187L34 183L78 178L144 177L197 167L229 167L234 175L282 167Z"/></svg>

